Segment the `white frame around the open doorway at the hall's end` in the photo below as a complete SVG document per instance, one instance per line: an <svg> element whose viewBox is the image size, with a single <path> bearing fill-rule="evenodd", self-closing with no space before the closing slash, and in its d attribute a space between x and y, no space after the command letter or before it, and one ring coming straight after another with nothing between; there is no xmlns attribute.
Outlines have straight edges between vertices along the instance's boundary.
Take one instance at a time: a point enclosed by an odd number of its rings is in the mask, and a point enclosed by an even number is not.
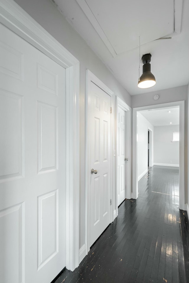
<svg viewBox="0 0 189 283"><path fill-rule="evenodd" d="M152 110L158 108L174 108L179 106L180 108L180 119L179 119L179 131L180 131L180 142L179 142L179 208L185 210L185 164L184 164L184 103L185 101L175 101L157 105L143 106L133 108L133 198L138 198L138 142L137 142L137 111L141 110Z"/></svg>

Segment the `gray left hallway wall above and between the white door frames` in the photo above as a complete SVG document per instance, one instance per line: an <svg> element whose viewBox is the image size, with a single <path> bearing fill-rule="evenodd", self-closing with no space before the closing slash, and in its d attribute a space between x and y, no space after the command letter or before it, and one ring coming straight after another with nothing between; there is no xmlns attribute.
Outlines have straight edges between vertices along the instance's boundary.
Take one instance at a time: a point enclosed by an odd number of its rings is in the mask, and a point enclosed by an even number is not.
<svg viewBox="0 0 189 283"><path fill-rule="evenodd" d="M86 70L96 75L115 95L131 106L130 94L71 27L50 0L16 0L30 16L80 61L80 233L79 247L85 243L85 91Z"/></svg>

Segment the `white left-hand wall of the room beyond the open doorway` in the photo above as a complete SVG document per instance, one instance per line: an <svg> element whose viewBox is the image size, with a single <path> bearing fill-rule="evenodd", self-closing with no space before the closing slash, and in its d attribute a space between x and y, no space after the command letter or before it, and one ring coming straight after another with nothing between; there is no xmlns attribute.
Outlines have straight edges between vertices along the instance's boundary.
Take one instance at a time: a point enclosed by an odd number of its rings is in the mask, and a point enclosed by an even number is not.
<svg viewBox="0 0 189 283"><path fill-rule="evenodd" d="M154 126L141 113L137 113L138 121L138 180L148 171L148 128L152 130L152 164Z"/></svg>

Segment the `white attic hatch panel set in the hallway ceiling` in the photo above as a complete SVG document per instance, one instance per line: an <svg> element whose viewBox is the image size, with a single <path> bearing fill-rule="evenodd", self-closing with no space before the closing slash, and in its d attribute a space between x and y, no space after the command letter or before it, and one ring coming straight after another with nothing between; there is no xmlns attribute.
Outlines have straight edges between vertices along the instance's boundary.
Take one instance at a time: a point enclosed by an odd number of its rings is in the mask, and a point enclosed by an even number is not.
<svg viewBox="0 0 189 283"><path fill-rule="evenodd" d="M164 4L164 0L146 0L146 6L143 1L138 0L129 1L129 5L125 0L76 1L105 44L108 40L114 50L112 52L114 57L138 47L139 35L142 45L171 34L174 29L173 0L167 0L164 9L161 5ZM159 4L159 2L162 3ZM133 11L135 12L133 13ZM159 21L159 15L161 15L161 21ZM141 20L141 16L143 20ZM153 33L146 32L149 22ZM101 31L104 36L101 35ZM109 48L109 45L107 47ZM109 48L110 52L112 48Z"/></svg>

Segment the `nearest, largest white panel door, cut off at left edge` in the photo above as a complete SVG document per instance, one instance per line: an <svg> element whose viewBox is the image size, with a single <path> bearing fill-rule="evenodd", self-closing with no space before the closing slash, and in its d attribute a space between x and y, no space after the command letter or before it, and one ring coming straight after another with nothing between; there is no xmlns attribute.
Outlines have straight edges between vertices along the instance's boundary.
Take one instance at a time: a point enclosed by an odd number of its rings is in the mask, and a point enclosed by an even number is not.
<svg viewBox="0 0 189 283"><path fill-rule="evenodd" d="M0 278L66 265L65 69L0 25Z"/></svg>

